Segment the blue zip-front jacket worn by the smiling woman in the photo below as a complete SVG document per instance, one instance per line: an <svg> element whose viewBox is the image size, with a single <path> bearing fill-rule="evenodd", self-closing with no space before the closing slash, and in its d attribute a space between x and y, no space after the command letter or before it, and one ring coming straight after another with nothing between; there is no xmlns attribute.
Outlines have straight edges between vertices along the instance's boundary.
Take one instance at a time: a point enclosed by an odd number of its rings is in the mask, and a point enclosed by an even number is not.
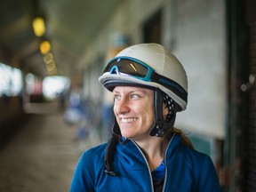
<svg viewBox="0 0 256 192"><path fill-rule="evenodd" d="M128 140L118 143L114 157L117 176L108 176L103 164L106 144L91 148L80 157L71 182L71 192L154 191L151 172L140 148ZM219 192L220 184L209 156L188 148L174 135L164 156L163 191Z"/></svg>

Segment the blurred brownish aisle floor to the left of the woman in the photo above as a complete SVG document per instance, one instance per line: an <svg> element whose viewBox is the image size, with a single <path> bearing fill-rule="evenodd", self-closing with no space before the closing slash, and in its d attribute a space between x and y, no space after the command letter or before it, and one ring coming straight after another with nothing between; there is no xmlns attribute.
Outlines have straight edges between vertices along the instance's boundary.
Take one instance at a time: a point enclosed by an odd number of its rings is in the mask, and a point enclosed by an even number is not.
<svg viewBox="0 0 256 192"><path fill-rule="evenodd" d="M63 113L32 115L0 148L0 191L69 191L79 156L97 144L75 139L76 126L65 124Z"/></svg>

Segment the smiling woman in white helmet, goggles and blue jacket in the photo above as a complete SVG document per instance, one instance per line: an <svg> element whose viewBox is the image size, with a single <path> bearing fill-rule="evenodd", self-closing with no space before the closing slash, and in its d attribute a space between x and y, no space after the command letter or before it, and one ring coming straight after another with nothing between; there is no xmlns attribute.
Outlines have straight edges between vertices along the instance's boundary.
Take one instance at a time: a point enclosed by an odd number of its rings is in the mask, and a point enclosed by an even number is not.
<svg viewBox="0 0 256 192"><path fill-rule="evenodd" d="M220 191L211 158L173 128L187 107L188 82L171 52L128 47L100 83L114 94L113 136L80 157L70 191Z"/></svg>

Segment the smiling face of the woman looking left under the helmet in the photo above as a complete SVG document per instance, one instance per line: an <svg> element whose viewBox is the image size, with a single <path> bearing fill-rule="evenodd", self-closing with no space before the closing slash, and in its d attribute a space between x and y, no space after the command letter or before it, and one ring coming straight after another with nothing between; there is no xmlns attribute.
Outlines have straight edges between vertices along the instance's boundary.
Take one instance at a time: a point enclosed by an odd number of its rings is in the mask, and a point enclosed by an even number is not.
<svg viewBox="0 0 256 192"><path fill-rule="evenodd" d="M149 89L116 86L114 113L124 138L141 140L149 136L154 124L154 92Z"/></svg>

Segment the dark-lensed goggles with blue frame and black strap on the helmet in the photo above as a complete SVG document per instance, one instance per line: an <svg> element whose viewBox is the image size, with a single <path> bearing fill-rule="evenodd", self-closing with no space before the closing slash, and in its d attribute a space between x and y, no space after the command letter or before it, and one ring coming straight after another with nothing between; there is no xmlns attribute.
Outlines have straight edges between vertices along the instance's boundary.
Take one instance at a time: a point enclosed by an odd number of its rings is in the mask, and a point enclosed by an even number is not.
<svg viewBox="0 0 256 192"><path fill-rule="evenodd" d="M107 72L113 75L132 76L146 82L161 84L178 95L182 100L187 101L188 92L186 92L180 84L157 74L153 68L150 68L146 63L140 60L130 57L116 57L108 62L103 73Z"/></svg>

